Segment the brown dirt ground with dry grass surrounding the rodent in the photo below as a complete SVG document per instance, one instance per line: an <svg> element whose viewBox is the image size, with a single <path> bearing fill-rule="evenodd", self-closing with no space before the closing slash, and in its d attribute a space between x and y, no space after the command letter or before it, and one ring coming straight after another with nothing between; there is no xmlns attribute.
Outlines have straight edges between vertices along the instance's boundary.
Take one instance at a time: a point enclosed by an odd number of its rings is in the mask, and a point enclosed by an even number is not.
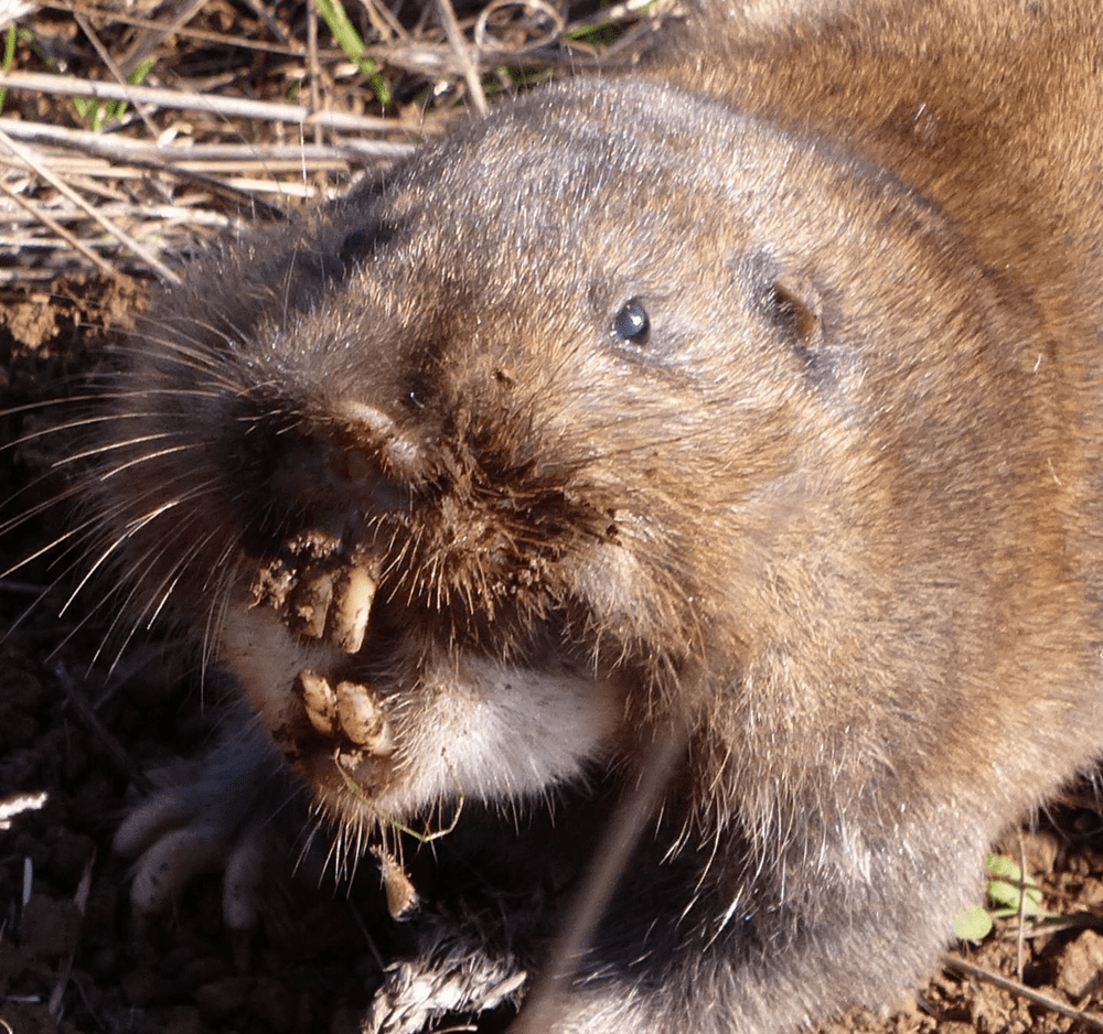
<svg viewBox="0 0 1103 1034"><path fill-rule="evenodd" d="M581 8L577 18L592 24L592 9ZM362 69L336 51L324 26L315 34L301 6L208 2L191 9L190 20L167 21L180 10L139 4L120 21L121 8L29 8L11 35L8 65L58 78L109 78L104 54L121 67L124 57L132 67L152 54L159 60L147 85L282 100L288 78L299 76L330 110L364 119L383 114L365 99ZM287 125L195 109L148 108L140 116L131 109L115 123L108 119L107 132L89 127L87 109L41 87L11 90L6 100L7 131L18 120L79 137L23 139L148 248L120 246L45 173L29 171L8 150L0 164L0 499L8 497L0 507L0 574L9 572L0 578L0 1031L352 1034L379 983L388 937L373 886L347 895L280 881L260 929L247 938L223 926L213 875L196 880L171 915L131 913L127 864L111 851L113 832L148 785L143 774L202 751L214 719L195 672L174 663L179 654L165 633L153 629L120 653L111 615L88 606L94 588L68 604L83 568L61 538L77 519L66 497L71 468L58 465L66 439L42 433L75 412L82 379L103 367L105 346L140 305L153 276L147 254L175 265L204 234L264 216L300 187L340 190L385 160L388 147L409 146L475 103L462 62L449 56L431 21L417 11L365 10L360 29L384 62L392 90L386 114L396 116L372 138L374 150L357 150L331 129L311 144ZM476 31L478 11L460 14L461 30ZM521 31L503 24L503 39ZM620 28L631 24L627 19ZM251 43L237 46L235 39ZM588 43L556 39L534 47L528 37L513 52L508 74L484 55L483 84L508 91L539 62L580 67L591 60ZM246 157L205 164L176 158L152 168L147 152L128 158L116 140L148 141L156 132L178 142L240 143ZM282 146L301 155L298 164L283 162ZM263 155L259 172L248 165L250 151ZM62 405L50 405L56 400ZM62 546L38 557L49 542ZM1021 938L1016 918L997 920L982 943L959 944L945 968L897 1009L824 1030L1103 1030L1103 839L1089 789L1010 831L1000 845L1036 881L1045 918L1028 919ZM913 922L923 923L923 901L913 904ZM462 1017L447 1028L474 1030Z"/></svg>

